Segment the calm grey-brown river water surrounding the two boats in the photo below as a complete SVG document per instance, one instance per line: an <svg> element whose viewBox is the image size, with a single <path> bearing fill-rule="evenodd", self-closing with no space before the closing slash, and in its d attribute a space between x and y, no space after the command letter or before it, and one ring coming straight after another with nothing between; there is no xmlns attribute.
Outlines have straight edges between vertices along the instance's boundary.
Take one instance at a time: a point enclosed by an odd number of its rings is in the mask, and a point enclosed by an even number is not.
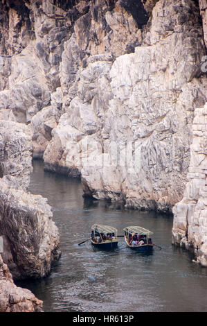
<svg viewBox="0 0 207 326"><path fill-rule="evenodd" d="M18 285L43 300L44 311L207 311L207 268L172 246L172 216L86 200L79 180L44 172L42 162L34 161L33 167L29 190L48 198L62 256L48 277ZM140 225L154 232L152 240L161 250L139 254L123 238L112 252L94 249L89 241L78 246L93 223L114 226L118 234L127 225Z"/></svg>

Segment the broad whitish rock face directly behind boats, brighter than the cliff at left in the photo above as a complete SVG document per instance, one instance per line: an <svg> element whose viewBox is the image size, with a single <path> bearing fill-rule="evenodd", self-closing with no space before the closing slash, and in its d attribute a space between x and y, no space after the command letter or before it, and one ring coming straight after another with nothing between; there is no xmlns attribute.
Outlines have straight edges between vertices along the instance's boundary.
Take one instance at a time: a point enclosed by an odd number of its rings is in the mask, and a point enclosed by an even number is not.
<svg viewBox="0 0 207 326"><path fill-rule="evenodd" d="M167 212L183 196L193 111L206 101L200 69L206 49L194 1L159 1L150 24L144 46L114 63L93 55L78 70L69 66L71 47L65 46L66 113L44 162L66 174L78 169L85 194ZM66 81L66 67L72 80Z"/></svg>

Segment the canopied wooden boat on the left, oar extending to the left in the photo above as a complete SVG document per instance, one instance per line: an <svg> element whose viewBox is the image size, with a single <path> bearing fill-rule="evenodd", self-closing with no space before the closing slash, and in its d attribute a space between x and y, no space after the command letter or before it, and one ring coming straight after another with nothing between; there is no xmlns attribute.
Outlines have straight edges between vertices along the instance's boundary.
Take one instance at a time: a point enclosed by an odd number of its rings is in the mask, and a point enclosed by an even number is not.
<svg viewBox="0 0 207 326"><path fill-rule="evenodd" d="M92 246L104 250L113 250L118 245L117 230L109 225L93 224L91 226Z"/></svg>

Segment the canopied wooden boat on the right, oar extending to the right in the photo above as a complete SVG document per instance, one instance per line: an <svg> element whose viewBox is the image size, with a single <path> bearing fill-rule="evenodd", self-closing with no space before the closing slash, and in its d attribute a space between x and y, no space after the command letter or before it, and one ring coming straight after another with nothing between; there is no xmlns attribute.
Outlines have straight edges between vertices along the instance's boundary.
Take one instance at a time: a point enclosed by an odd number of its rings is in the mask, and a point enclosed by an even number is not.
<svg viewBox="0 0 207 326"><path fill-rule="evenodd" d="M125 232L125 242L127 246L138 252L151 252L153 250L152 239L153 234L150 230L141 228L141 226L127 226L123 229ZM138 239L137 244L132 245L132 239Z"/></svg>

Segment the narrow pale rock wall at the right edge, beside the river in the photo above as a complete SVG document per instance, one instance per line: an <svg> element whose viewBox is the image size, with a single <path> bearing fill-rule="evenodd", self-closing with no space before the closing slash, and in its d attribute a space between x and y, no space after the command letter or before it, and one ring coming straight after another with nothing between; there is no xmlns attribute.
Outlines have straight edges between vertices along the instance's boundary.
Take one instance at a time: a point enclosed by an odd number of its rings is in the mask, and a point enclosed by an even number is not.
<svg viewBox="0 0 207 326"><path fill-rule="evenodd" d="M172 243L192 249L207 266L207 104L195 110L188 182L183 199L173 207Z"/></svg>

